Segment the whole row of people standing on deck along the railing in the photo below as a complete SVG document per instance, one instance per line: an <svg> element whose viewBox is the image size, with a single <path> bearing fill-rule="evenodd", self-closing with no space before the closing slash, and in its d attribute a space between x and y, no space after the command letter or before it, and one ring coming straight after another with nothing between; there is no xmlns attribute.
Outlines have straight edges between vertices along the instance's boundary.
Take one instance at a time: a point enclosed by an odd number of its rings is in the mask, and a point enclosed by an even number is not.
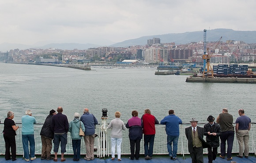
<svg viewBox="0 0 256 163"><path fill-rule="evenodd" d="M79 113L74 114L74 120L68 123L68 118L62 114L62 107L58 107L57 114L55 110L51 110L49 116L45 119L45 123L41 129L41 141L42 152L41 159L47 159L57 161L57 152L59 145L61 147L61 162L65 161L64 153L66 152L67 133L71 133L72 147L74 151L74 161L79 161L81 139L84 138L86 146L85 160L94 159L94 134L95 125L98 124L98 120L93 114L89 113L89 110L85 108L83 115L79 120ZM236 120L236 135L239 143L239 154L237 157L243 158L243 146L245 146L244 155L248 158L248 140L249 130L251 127L251 120L248 116L245 116L243 109L238 111L239 117ZM115 159L115 148L117 146L117 159L121 161L121 143L122 143L122 130L129 129L129 140L131 156L130 159L139 159L140 141L144 134L144 151L145 159L152 159L154 136L155 136L155 124L159 124L158 120L151 115L151 111L146 109L141 118L138 117L136 110L132 111L132 118L128 120L127 124L120 120L120 112L115 112L116 118L111 120L108 128L111 128L111 153L112 160ZM7 118L4 120L4 141L5 141L5 159L16 160L16 144L15 135L19 126L15 125L12 120L14 113L9 111ZM222 109L222 113L218 115L215 121L213 116L208 116L204 127L197 126L198 121L192 118L191 127L185 129L185 134L188 139L188 151L192 158L192 163L203 163L203 148L208 149L208 162L212 163L217 156L217 148L219 146L219 137L221 139L221 157L226 156L226 141L227 141L227 160L231 160L231 152L233 148L234 139L234 127L233 116L228 113L226 108ZM34 155L34 124L35 118L32 116L30 110L26 111L26 116L22 116L22 141L24 150L24 159L26 161L36 159ZM164 117L160 122L162 125L166 125L167 134L167 149L170 159L177 159L177 144L179 139L179 124L182 124L182 120L174 114L173 110L169 110L169 115ZM83 132L81 132L81 130ZM81 134L82 133L82 134ZM203 136L206 135L206 141ZM54 158L51 157L52 140L54 143ZM28 150L28 142L30 142L30 154ZM172 147L173 145L173 147ZM10 155L11 147L11 155ZM12 156L12 158L11 158ZM29 159L30 156L30 159Z"/></svg>

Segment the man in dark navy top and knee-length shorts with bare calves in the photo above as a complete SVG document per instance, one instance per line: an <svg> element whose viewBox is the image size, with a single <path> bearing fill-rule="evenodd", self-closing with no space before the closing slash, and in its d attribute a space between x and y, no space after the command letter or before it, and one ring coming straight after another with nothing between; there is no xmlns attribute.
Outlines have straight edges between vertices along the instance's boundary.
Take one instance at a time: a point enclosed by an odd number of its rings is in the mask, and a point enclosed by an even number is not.
<svg viewBox="0 0 256 163"><path fill-rule="evenodd" d="M58 107L58 114L55 114L52 118L51 129L54 132L54 155L55 158L53 161L57 161L57 153L59 149L59 145L61 147L61 162L65 161L64 152L66 152L66 144L67 144L67 133L68 133L68 118L64 114L62 114L62 107Z"/></svg>

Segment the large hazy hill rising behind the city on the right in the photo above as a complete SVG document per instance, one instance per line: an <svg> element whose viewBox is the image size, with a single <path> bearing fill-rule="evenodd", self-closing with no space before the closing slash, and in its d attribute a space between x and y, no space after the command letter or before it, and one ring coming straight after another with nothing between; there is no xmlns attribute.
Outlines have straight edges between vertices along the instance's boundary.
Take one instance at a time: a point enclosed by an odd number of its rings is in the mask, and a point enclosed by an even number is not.
<svg viewBox="0 0 256 163"><path fill-rule="evenodd" d="M222 36L222 41L237 40L245 43L256 43L256 31L234 31L233 29L212 29L206 31L206 41L217 41ZM160 38L161 43L175 42L186 44L203 41L203 30L186 33L169 33L163 35L142 36L137 39L125 40L120 43L110 45L110 47L129 47L133 45L145 45L148 39Z"/></svg>

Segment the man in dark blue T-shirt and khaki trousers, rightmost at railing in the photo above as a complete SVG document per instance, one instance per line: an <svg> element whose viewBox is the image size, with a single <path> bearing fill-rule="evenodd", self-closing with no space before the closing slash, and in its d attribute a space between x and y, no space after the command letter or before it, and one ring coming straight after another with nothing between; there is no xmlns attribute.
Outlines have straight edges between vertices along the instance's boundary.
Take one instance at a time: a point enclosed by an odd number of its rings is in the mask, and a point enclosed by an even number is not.
<svg viewBox="0 0 256 163"><path fill-rule="evenodd" d="M251 129L251 119L248 116L245 116L244 109L238 111L240 117L236 120L236 134L237 141L239 144L239 155L237 157L243 158L243 144L245 144L245 158L248 158L249 155L249 130Z"/></svg>

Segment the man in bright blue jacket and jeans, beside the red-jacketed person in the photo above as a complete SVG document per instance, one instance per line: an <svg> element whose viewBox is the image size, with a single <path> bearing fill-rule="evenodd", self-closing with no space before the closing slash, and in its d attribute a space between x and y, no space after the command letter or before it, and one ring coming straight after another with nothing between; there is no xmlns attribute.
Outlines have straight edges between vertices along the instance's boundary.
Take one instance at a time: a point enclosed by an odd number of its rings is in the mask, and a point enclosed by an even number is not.
<svg viewBox="0 0 256 163"><path fill-rule="evenodd" d="M179 124L181 124L182 121L178 116L175 116L173 110L169 110L169 116L164 117L164 119L161 120L160 123L166 125L167 149L169 152L170 159L176 160L178 140L180 135ZM172 143L173 143L173 150L172 150Z"/></svg>

